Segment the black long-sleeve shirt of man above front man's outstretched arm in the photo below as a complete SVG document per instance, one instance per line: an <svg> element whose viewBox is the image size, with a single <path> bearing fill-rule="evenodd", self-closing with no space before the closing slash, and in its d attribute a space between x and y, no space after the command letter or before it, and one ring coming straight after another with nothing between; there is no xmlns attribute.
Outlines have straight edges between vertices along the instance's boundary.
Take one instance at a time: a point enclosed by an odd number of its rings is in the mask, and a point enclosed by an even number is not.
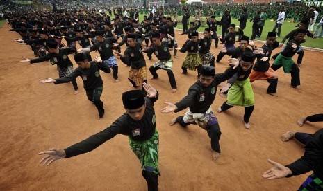
<svg viewBox="0 0 323 191"><path fill-rule="evenodd" d="M55 79L56 82L54 84L67 83L80 76L83 80L83 87L85 91L90 91L103 84L103 80L100 75L100 70L106 73L111 72L111 70L106 64L97 63L93 61L90 62L89 69L82 69L78 66L71 74L67 75L66 77Z"/></svg>

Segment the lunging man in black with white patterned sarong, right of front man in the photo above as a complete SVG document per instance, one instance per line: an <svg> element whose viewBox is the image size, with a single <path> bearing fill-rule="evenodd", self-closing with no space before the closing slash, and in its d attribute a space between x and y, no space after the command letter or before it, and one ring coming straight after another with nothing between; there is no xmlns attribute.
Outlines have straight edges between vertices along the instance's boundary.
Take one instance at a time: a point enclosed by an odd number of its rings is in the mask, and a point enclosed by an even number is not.
<svg viewBox="0 0 323 191"><path fill-rule="evenodd" d="M232 63L229 62L229 64ZM188 95L176 104L165 102L167 107L161 109L161 112L163 113L172 111L176 113L189 107L185 116L173 118L170 121L170 125L174 125L176 122L179 122L183 127L190 124L197 124L202 129L205 129L211 139L214 160L217 160L221 153L219 144L221 131L217 118L211 108L211 104L213 104L213 101L215 100L217 86L233 76L235 73L233 69L235 69L236 66L238 66L238 64L235 63L233 68L229 68L224 73L218 74L215 74L215 68L213 66L202 66L201 76L199 80L190 87Z"/></svg>

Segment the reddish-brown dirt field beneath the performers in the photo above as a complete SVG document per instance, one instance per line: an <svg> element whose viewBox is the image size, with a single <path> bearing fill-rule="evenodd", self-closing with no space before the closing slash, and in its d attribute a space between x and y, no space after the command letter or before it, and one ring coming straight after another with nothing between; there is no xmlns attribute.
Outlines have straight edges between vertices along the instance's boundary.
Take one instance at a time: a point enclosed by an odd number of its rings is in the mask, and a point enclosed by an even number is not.
<svg viewBox="0 0 323 191"><path fill-rule="evenodd" d="M93 152L55 161L48 167L38 163L42 158L38 152L51 147L64 149L105 129L124 113L121 96L131 89L129 68L118 60L118 83L112 73L101 73L106 116L97 120L97 109L86 98L81 79L77 79L80 93L76 96L72 84L40 84L44 78L58 77L56 66L19 62L33 58L33 52L29 46L13 42L18 34L7 32L8 28L5 24L0 29L0 190L146 190L140 163L126 136L116 136ZM176 35L179 46L185 38ZM213 44L211 51L217 55L220 48L215 49ZM278 98L265 93L266 81L253 83L256 104L250 130L243 125L242 107L216 113L222 130L222 156L217 161L213 161L206 131L197 125L186 129L168 125L170 119L185 111L159 111L164 102L181 100L197 80L196 71L181 74L185 55L178 53L174 59L176 93L170 93L165 71L158 71L158 80L148 81L160 93L155 105L160 134L160 190L297 190L310 173L272 181L261 175L272 167L267 158L287 165L304 153L304 147L294 140L283 143L281 134L288 130L313 133L322 127L322 122L296 125L300 117L322 113L322 53L305 51L299 90L290 88L290 75L282 69L277 71ZM73 60L72 55L69 57ZM217 73L226 69L227 58L216 63ZM153 56L153 60L147 60L147 67L156 61ZM148 73L147 77L152 76ZM217 95L213 110L224 101Z"/></svg>

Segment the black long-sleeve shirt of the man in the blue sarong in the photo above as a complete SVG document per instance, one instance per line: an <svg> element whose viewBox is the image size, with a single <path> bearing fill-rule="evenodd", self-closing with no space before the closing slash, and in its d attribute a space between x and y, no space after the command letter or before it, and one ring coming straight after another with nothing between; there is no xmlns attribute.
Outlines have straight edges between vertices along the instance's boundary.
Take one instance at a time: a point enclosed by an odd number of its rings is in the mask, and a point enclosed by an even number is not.
<svg viewBox="0 0 323 191"><path fill-rule="evenodd" d="M90 47L90 51L98 50L102 60L108 60L113 56L113 43L117 42L114 38L106 38L103 42L97 42Z"/></svg>

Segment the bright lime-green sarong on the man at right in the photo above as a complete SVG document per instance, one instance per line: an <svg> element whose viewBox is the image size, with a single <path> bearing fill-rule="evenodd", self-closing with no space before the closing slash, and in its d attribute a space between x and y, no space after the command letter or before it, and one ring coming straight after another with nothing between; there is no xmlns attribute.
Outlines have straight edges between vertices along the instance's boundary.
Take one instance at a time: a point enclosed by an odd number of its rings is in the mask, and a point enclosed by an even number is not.
<svg viewBox="0 0 323 191"><path fill-rule="evenodd" d="M228 92L229 105L249 107L253 106L254 101L254 91L252 90L249 78L244 81L236 81Z"/></svg>

